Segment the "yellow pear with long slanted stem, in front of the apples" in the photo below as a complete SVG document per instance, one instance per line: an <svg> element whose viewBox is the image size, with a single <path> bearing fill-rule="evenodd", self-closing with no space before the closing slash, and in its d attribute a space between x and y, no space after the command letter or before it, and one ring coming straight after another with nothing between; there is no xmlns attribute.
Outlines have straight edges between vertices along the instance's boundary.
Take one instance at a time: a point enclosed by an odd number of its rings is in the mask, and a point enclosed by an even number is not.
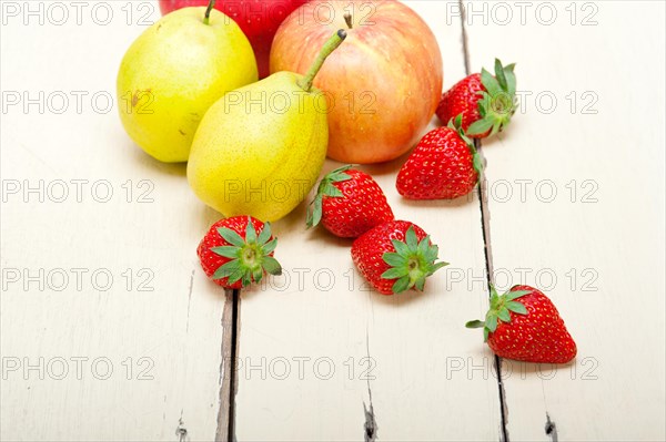
<svg viewBox="0 0 666 442"><path fill-rule="evenodd" d="M312 81L345 38L333 34L304 76L278 72L211 106L188 163L201 201L225 216L274 222L305 198L329 146L326 95Z"/></svg>

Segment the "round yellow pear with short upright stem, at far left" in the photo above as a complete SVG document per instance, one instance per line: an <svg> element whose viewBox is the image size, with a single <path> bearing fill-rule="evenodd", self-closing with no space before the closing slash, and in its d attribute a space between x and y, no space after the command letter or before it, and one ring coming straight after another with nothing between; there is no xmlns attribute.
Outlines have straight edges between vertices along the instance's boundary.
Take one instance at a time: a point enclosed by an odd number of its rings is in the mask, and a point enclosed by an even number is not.
<svg viewBox="0 0 666 442"><path fill-rule="evenodd" d="M188 161L208 109L224 93L258 80L248 38L229 17L209 8L183 8L148 28L120 64L120 120L153 157Z"/></svg>

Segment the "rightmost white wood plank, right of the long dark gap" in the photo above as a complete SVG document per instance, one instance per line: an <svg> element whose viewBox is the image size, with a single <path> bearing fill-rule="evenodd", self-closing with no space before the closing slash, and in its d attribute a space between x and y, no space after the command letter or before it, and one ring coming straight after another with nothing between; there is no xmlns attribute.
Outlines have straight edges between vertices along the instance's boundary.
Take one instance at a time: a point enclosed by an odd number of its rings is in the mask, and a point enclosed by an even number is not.
<svg viewBox="0 0 666 442"><path fill-rule="evenodd" d="M577 2L574 25L569 2L534 3L525 24L505 3L504 25L493 3L473 3L487 20L468 18L472 69L517 62L532 93L484 142L496 281L549 288L578 345L553 372L505 362L509 438L553 438L547 413L561 440L664 440L664 3ZM524 199L517 179L532 181Z"/></svg>

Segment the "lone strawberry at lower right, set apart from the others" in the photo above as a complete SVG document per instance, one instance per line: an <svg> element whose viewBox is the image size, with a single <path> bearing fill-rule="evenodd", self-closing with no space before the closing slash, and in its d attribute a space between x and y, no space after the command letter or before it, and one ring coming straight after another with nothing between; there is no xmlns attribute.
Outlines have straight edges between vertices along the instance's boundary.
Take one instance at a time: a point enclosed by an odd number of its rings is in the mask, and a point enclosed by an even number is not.
<svg viewBox="0 0 666 442"><path fill-rule="evenodd" d="M501 358L527 362L566 363L576 357L576 343L557 309L544 294L529 286L515 286L498 296L491 287L491 309L483 327L484 339Z"/></svg>

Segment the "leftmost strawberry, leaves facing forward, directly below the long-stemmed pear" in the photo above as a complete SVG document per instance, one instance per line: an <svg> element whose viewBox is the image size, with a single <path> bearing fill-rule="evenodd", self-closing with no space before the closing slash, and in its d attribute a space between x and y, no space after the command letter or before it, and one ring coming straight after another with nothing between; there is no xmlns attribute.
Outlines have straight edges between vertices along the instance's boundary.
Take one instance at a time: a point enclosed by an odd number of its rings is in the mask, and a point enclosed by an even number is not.
<svg viewBox="0 0 666 442"><path fill-rule="evenodd" d="M216 285L238 289L259 282L266 273L281 274L280 263L273 258L276 245L270 223L234 216L213 224L196 254L203 271Z"/></svg>

